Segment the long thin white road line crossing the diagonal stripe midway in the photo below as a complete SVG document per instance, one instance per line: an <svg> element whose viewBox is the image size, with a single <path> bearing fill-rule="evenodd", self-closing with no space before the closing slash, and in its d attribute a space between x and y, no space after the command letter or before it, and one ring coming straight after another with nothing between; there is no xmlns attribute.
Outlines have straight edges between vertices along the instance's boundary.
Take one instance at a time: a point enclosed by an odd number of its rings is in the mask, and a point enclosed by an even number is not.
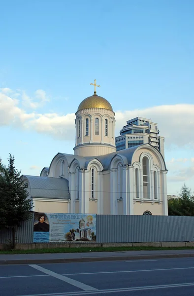
<svg viewBox="0 0 194 296"><path fill-rule="evenodd" d="M102 272L84 272L84 273L64 273L62 275L65 276L65 275L84 275L84 274L106 274L106 273L109 274L109 273L148 272L148 271L165 271L165 270L179 270L179 269L194 269L194 267L145 269L145 270L124 270L124 271L102 271ZM0 279L23 278L23 277L39 277L39 276L49 276L49 275L50 274L1 276Z"/></svg>

